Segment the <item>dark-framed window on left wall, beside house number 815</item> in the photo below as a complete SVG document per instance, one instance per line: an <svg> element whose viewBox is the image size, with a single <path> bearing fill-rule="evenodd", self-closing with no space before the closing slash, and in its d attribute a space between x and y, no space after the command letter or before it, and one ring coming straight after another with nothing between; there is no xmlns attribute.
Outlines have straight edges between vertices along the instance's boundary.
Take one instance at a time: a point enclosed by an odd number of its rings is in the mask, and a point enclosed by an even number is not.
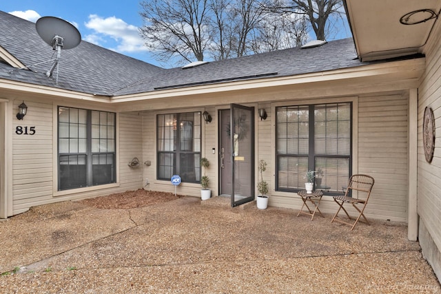
<svg viewBox="0 0 441 294"><path fill-rule="evenodd" d="M116 182L115 114L58 110L59 191Z"/></svg>

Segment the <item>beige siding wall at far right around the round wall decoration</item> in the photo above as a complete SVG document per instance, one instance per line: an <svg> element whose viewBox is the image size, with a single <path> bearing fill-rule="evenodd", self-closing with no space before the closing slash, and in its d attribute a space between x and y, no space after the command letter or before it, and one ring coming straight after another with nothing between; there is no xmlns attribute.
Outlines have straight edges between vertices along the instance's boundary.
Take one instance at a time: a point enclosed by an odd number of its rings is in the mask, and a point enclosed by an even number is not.
<svg viewBox="0 0 441 294"><path fill-rule="evenodd" d="M440 21L425 48L426 71L418 89L418 216L422 253L441 279L441 34ZM435 116L435 153L431 163L424 157L422 121L425 107Z"/></svg>

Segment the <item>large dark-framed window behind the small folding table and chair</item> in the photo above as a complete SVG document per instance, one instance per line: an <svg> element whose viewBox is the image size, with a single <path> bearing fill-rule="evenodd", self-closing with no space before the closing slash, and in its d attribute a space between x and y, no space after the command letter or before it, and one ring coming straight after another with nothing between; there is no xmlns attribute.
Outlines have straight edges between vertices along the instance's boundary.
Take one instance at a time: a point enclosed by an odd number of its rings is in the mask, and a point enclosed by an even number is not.
<svg viewBox="0 0 441 294"><path fill-rule="evenodd" d="M305 189L316 171L315 189L338 194L351 174L351 103L276 108L276 189ZM311 127L312 126L312 127Z"/></svg>

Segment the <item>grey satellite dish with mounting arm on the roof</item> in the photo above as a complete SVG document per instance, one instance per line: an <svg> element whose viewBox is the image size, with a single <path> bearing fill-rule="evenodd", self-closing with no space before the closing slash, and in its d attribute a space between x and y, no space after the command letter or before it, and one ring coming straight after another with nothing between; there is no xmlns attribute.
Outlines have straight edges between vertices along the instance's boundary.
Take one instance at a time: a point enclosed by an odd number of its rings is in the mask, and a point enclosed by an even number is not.
<svg viewBox="0 0 441 294"><path fill-rule="evenodd" d="M74 25L58 17L41 17L37 20L37 23L35 23L35 28L41 39L52 46L53 50L57 51L54 64L50 70L46 72L46 76L50 77L58 65L58 61L61 57L61 49L72 49L78 46L81 42L81 34L76 30Z"/></svg>

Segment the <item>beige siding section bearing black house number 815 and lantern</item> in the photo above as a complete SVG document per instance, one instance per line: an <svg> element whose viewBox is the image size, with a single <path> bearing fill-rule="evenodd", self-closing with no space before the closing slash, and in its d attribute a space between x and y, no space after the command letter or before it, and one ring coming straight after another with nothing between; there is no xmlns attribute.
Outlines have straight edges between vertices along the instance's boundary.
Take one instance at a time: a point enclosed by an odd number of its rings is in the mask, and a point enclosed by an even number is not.
<svg viewBox="0 0 441 294"><path fill-rule="evenodd" d="M52 198L52 103L25 101L28 114L15 119L19 104L12 107L12 208L21 213ZM16 134L17 127L35 127L34 135Z"/></svg>

